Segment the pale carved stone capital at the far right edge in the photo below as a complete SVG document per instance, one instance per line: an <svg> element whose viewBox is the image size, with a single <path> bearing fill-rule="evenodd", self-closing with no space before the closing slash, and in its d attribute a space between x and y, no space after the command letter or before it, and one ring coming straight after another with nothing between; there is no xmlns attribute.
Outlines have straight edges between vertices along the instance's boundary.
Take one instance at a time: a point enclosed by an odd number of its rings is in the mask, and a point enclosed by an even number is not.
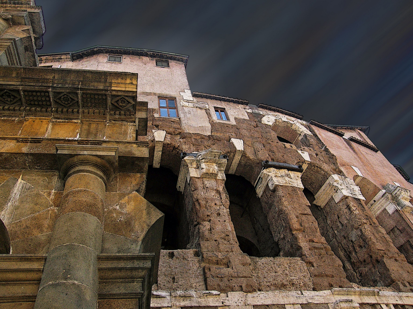
<svg viewBox="0 0 413 309"><path fill-rule="evenodd" d="M402 188L399 185L388 183L383 190L380 190L375 197L373 197L367 206L375 217L385 208L390 215L392 215L396 209L411 212L413 205L410 203L410 199L410 190Z"/></svg>

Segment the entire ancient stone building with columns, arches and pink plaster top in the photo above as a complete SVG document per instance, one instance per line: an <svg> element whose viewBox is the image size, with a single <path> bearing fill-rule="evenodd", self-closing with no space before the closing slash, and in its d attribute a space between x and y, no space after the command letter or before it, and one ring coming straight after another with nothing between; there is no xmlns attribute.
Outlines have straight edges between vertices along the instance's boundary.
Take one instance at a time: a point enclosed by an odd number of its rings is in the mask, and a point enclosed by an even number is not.
<svg viewBox="0 0 413 309"><path fill-rule="evenodd" d="M367 127L190 90L188 56L36 54L0 5L0 308L412 308L408 176Z"/></svg>

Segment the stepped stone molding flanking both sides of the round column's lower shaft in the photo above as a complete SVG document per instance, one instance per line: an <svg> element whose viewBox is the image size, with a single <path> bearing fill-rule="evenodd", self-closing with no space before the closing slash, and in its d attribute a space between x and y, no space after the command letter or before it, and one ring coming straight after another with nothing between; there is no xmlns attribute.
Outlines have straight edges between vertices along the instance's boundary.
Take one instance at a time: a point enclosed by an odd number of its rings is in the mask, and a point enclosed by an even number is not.
<svg viewBox="0 0 413 309"><path fill-rule="evenodd" d="M41 254L0 256L0 306L33 308L45 260ZM98 255L98 302L116 307L119 299L126 299L149 309L153 267L153 253Z"/></svg>

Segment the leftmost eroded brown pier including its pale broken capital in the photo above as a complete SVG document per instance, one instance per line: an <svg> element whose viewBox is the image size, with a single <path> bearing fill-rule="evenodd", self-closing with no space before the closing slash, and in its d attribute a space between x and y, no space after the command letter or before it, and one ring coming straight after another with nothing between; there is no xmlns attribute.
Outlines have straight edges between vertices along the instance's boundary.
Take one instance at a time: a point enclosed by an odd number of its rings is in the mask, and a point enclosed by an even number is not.
<svg viewBox="0 0 413 309"><path fill-rule="evenodd" d="M226 159L205 150L182 160L177 189L184 193L190 225L188 249L202 253L207 290L254 292L251 260L240 250L225 190Z"/></svg>

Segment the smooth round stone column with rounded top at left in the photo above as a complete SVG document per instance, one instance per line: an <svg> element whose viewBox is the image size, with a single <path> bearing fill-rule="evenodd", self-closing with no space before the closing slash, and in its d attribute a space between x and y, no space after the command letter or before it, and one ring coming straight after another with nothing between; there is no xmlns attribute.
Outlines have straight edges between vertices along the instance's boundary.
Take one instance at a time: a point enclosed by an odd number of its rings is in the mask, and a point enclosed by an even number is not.
<svg viewBox="0 0 413 309"><path fill-rule="evenodd" d="M96 309L104 196L114 172L99 157L77 155L60 174L66 182L35 308Z"/></svg>

